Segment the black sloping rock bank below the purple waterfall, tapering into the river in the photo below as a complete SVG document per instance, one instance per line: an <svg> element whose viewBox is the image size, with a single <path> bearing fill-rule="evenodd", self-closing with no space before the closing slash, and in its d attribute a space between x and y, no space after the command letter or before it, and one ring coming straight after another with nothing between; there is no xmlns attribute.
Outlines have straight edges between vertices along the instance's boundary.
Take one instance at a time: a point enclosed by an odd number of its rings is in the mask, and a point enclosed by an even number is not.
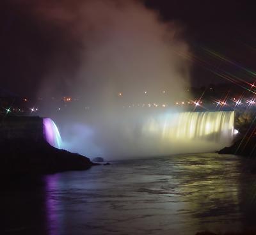
<svg viewBox="0 0 256 235"><path fill-rule="evenodd" d="M3 140L0 148L0 174L49 174L97 165L85 156L56 149L44 140Z"/></svg>

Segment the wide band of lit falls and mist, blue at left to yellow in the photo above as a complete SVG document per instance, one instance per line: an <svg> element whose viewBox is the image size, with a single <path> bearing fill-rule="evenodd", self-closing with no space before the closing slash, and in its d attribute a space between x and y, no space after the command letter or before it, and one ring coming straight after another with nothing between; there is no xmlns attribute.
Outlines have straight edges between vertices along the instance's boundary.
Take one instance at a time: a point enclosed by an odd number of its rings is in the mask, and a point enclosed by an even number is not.
<svg viewBox="0 0 256 235"><path fill-rule="evenodd" d="M71 127L62 129L63 147L89 157L115 160L211 153L232 143L234 112L124 110Z"/></svg>

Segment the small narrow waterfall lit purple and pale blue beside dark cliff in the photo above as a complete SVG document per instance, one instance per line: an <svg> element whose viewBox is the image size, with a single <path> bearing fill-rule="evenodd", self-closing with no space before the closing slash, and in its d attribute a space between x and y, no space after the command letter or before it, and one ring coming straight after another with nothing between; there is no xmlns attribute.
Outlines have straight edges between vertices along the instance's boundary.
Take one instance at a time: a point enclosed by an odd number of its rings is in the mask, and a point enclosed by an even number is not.
<svg viewBox="0 0 256 235"><path fill-rule="evenodd" d="M45 140L51 144L51 146L60 149L61 148L61 137L58 127L55 125L51 118L43 119L44 125L44 137Z"/></svg>

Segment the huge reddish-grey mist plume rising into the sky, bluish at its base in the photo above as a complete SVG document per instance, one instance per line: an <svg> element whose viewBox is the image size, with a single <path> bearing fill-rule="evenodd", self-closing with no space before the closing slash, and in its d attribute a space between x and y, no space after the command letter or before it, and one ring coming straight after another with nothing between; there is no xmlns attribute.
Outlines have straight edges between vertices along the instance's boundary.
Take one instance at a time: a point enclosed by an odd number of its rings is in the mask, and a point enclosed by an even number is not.
<svg viewBox="0 0 256 235"><path fill-rule="evenodd" d="M141 1L29 1L29 7L63 33L67 46L52 57L38 92L40 115L55 121L63 148L106 159L181 151L141 130L150 116L189 98L183 26L161 21ZM64 96L72 102L60 101Z"/></svg>

